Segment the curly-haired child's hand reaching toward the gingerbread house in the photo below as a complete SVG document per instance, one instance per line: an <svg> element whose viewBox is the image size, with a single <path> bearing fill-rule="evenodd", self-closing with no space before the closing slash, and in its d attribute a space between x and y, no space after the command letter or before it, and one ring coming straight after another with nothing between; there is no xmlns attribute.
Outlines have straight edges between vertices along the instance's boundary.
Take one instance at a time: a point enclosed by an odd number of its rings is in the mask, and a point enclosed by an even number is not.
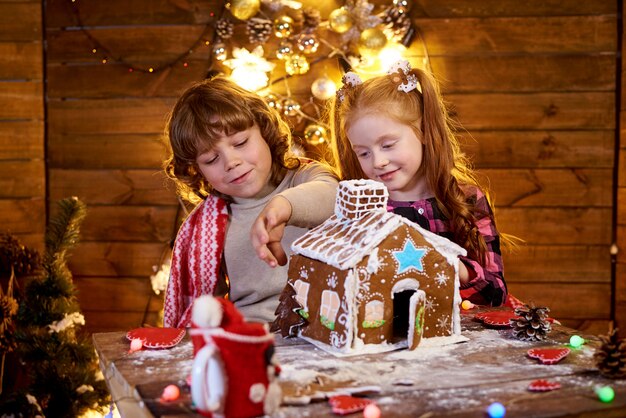
<svg viewBox="0 0 626 418"><path fill-rule="evenodd" d="M291 203L282 196L276 196L265 205L252 224L250 238L254 250L270 267L287 264L287 254L280 240L290 217Z"/></svg>

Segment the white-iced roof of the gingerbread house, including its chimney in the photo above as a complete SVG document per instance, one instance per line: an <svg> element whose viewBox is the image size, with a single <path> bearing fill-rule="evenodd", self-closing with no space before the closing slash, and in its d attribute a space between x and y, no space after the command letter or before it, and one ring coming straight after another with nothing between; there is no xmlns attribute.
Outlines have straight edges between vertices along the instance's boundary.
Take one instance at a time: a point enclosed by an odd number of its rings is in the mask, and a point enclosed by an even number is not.
<svg viewBox="0 0 626 418"><path fill-rule="evenodd" d="M387 236L405 225L418 231L452 263L465 249L395 213L387 212L387 189L373 180L339 183L335 214L297 239L291 249L341 270L354 267Z"/></svg>

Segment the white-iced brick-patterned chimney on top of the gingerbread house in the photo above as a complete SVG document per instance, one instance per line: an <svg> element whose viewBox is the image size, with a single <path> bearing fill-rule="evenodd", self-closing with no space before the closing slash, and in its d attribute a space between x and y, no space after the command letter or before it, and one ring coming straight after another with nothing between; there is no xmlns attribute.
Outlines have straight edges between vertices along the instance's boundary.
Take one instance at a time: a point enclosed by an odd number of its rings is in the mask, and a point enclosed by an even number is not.
<svg viewBox="0 0 626 418"><path fill-rule="evenodd" d="M335 215L338 218L358 219L372 211L387 210L387 189L373 180L346 180L339 183Z"/></svg>

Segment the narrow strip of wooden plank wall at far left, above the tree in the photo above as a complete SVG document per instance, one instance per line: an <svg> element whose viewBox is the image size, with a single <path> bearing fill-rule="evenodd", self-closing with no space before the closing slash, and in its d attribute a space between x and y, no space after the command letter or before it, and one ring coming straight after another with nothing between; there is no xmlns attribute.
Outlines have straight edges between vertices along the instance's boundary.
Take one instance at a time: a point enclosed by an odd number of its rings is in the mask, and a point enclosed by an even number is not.
<svg viewBox="0 0 626 418"><path fill-rule="evenodd" d="M43 68L41 2L0 1L0 232L40 250L46 225Z"/></svg>

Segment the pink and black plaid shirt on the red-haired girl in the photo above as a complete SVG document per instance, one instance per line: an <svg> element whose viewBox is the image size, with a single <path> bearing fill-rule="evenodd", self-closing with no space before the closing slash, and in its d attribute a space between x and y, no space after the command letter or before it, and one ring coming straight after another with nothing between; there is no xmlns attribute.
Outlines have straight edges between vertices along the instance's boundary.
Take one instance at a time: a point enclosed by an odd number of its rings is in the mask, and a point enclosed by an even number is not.
<svg viewBox="0 0 626 418"><path fill-rule="evenodd" d="M487 244L487 262L482 265L468 257L459 257L470 274L470 281L461 285L461 297L479 305L500 306L506 300L507 289L500 252L500 235L493 221L493 212L487 197L477 187L466 187L465 194L468 202L475 202L474 216L478 230ZM389 200L387 210L453 241L448 219L437 207L434 197L415 202Z"/></svg>

